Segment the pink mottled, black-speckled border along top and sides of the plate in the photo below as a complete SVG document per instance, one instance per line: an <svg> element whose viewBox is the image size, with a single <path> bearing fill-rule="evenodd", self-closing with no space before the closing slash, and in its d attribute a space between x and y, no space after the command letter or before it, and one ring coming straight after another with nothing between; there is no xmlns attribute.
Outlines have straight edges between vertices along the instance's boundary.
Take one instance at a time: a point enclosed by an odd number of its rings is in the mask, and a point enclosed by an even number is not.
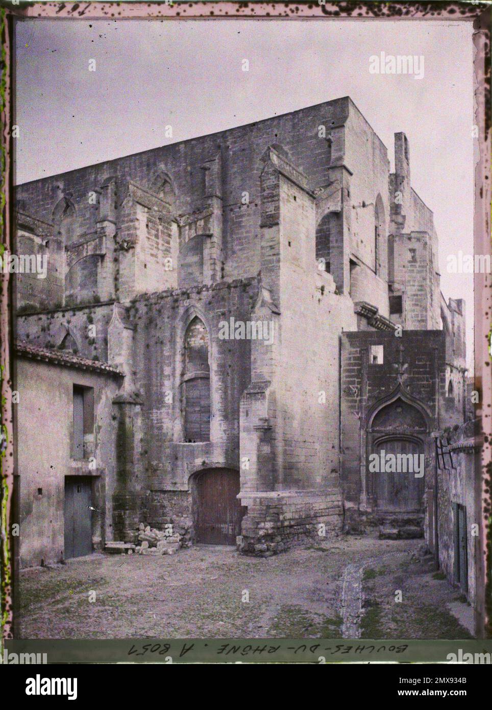
<svg viewBox="0 0 492 710"><path fill-rule="evenodd" d="M479 127L479 140L475 148L475 205L474 205L474 250L475 253L491 251L491 49L490 5L486 3L430 2L340 2L318 4L299 2L216 2L187 1L154 4L122 1L108 2L47 2L28 6L2 2L0 31L2 42L0 113L1 124L1 229L4 249L12 244L12 162L13 141L10 126L12 119L13 77L13 20L14 18L71 18L77 19L165 19L186 21L194 19L241 18L241 19L312 19L343 21L361 19L372 21L465 21L474 23L474 123ZM1 248L1 247L0 247ZM479 557L477 559L477 606L483 609L478 628L483 637L492 637L492 376L491 376L491 274L476 274L474 280L475 307L475 388L481 392L481 403L476 405L476 415L482 418L484 444L476 457L476 504L483 511ZM11 312L11 280L8 274L0 273L0 366L1 366L1 431L6 437L6 446L1 450L1 639L13 638L14 618L12 605L13 567L15 566L15 538L10 534L15 520L11 505L14 474L13 408L11 387L11 335L13 314ZM3 439L5 441L5 439ZM0 639L0 652L2 643Z"/></svg>

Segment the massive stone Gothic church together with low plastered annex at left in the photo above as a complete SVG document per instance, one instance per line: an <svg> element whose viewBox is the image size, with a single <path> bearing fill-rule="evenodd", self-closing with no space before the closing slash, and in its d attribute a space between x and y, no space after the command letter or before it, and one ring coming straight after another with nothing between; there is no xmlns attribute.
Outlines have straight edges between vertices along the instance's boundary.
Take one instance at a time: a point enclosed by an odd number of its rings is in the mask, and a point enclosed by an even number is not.
<svg viewBox="0 0 492 710"><path fill-rule="evenodd" d="M175 518L247 554L378 526L432 547L465 307L404 133L394 166L344 97L16 188L16 251L48 265L16 280L22 564Z"/></svg>

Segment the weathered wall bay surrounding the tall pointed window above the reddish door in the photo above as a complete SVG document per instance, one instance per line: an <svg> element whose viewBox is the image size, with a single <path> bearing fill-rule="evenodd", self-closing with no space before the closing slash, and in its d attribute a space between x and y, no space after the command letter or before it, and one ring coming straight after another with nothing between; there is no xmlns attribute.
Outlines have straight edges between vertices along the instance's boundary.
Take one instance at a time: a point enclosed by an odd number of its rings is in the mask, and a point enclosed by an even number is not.
<svg viewBox="0 0 492 710"><path fill-rule="evenodd" d="M128 309L135 328L133 371L145 421L142 486L188 491L189 476L214 466L239 468L239 405L250 383L250 341L220 339L220 322L250 320L256 279L140 297ZM181 376L184 334L198 316L208 332L210 442L184 441Z"/></svg>

